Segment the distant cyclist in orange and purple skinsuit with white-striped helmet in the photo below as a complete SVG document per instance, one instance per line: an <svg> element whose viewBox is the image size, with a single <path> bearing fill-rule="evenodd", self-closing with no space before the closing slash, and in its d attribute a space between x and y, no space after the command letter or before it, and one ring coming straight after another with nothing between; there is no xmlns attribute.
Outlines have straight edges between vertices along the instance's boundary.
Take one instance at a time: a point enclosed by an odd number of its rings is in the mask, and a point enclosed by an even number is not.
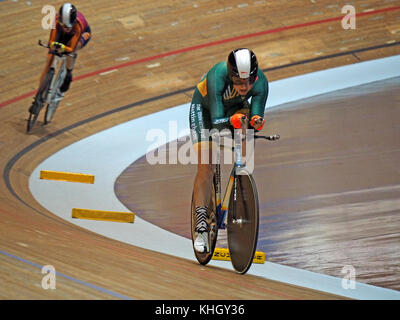
<svg viewBox="0 0 400 320"><path fill-rule="evenodd" d="M50 33L50 49L57 50L59 53L76 53L77 50L80 50L87 45L90 38L90 26L84 15L79 12L73 4L63 4L60 7L59 13L56 15L56 27L52 29ZM60 88L62 96L66 91L68 91L71 84L72 71L75 66L76 58L77 55L75 55L75 57L67 57L67 74ZM48 54L45 69L40 77L39 86L48 72L53 59L54 56Z"/></svg>

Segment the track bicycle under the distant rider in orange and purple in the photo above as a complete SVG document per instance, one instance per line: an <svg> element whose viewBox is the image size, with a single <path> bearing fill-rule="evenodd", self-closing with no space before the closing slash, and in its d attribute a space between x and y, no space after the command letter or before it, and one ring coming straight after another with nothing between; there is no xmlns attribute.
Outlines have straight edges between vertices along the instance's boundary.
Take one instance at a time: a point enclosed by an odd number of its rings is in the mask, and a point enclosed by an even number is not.
<svg viewBox="0 0 400 320"><path fill-rule="evenodd" d="M40 40L39 46L50 49L48 45L43 44ZM67 74L66 57L75 57L75 53L62 52L50 50L50 54L54 55L53 63L49 71L40 84L31 107L29 108L29 118L26 131L30 132L35 126L36 120L39 117L40 111L46 105L46 112L44 115L44 124L50 123L53 119L56 109L63 99L64 94L60 91L60 87L64 82L65 75Z"/></svg>

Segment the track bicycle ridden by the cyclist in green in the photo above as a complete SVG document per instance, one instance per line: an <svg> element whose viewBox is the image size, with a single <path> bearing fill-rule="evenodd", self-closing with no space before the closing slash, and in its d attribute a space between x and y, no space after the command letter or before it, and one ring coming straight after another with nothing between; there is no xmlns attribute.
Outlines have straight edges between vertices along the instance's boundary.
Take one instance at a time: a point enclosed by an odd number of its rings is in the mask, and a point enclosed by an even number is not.
<svg viewBox="0 0 400 320"><path fill-rule="evenodd" d="M243 128L248 128L248 119L244 117ZM208 205L207 225L209 251L200 253L194 249L195 235L195 206L192 195L191 204L191 234L192 245L196 259L206 265L212 258L217 243L218 230L227 229L228 249L231 263L236 272L245 274L253 262L258 240L259 203L256 183L243 162L246 143L254 143L255 139L276 141L278 134L272 136L253 135L249 141L246 129L241 131L241 137L235 138L234 164L228 180L224 198L221 198L221 166L220 148L217 148L217 163L215 165L211 200ZM232 134L232 133L230 133ZM217 135L217 143L219 138Z"/></svg>

